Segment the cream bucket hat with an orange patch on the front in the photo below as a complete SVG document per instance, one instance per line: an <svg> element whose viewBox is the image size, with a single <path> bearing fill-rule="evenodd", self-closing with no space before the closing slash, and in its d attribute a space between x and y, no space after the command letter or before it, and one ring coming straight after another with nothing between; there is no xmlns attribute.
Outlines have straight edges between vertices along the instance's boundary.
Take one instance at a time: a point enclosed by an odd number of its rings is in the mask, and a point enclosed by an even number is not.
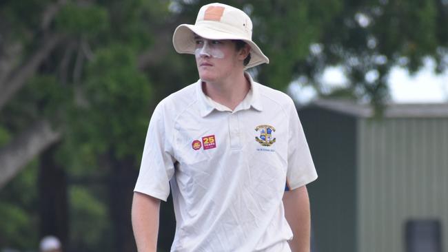
<svg viewBox="0 0 448 252"><path fill-rule="evenodd" d="M182 24L174 31L173 45L176 52L194 54L194 34L205 39L235 39L250 45L251 59L245 68L269 63L267 56L252 42L252 21L242 10L223 3L210 3L199 10L194 25Z"/></svg>

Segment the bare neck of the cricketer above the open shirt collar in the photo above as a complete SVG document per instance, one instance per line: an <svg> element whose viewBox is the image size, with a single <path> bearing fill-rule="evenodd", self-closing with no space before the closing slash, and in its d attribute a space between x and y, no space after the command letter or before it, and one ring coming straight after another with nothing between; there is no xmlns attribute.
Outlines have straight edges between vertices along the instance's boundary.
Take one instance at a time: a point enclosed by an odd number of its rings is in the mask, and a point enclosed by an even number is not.
<svg viewBox="0 0 448 252"><path fill-rule="evenodd" d="M228 76L219 83L203 82L202 88L203 92L213 101L234 110L249 92L250 82L243 72L236 76Z"/></svg>

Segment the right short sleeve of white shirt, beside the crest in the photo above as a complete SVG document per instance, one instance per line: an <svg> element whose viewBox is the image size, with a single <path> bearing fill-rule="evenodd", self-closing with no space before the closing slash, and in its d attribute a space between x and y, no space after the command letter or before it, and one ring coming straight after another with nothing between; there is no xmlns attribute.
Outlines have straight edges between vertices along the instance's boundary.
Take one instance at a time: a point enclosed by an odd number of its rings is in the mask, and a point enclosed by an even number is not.
<svg viewBox="0 0 448 252"><path fill-rule="evenodd" d="M316 180L311 153L296 107L289 105L289 140L286 189L293 190Z"/></svg>

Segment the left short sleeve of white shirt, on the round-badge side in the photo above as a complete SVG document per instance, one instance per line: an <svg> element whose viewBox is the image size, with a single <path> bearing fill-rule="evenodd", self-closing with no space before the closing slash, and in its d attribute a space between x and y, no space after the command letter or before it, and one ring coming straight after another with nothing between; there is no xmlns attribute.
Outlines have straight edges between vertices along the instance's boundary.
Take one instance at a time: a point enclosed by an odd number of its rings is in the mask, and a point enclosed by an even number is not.
<svg viewBox="0 0 448 252"><path fill-rule="evenodd" d="M174 175L171 126L159 103L147 129L139 177L134 191L166 201L170 195L170 179Z"/></svg>

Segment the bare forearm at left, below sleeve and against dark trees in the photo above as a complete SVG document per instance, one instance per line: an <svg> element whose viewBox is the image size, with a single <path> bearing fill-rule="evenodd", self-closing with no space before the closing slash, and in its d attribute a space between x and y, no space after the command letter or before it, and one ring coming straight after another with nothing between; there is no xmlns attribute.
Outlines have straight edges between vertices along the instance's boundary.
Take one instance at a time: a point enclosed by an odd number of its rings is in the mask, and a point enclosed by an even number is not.
<svg viewBox="0 0 448 252"><path fill-rule="evenodd" d="M156 252L159 233L160 200L143 193L134 193L132 229L139 252Z"/></svg>

